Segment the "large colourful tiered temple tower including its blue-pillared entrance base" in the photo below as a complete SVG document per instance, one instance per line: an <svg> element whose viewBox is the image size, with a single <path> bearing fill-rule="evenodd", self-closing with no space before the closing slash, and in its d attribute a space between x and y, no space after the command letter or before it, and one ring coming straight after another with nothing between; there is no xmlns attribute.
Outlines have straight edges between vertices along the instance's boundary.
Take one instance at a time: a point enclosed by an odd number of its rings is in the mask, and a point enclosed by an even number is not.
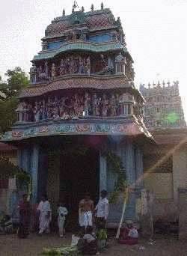
<svg viewBox="0 0 187 256"><path fill-rule="evenodd" d="M143 122L144 98L134 85L132 57L120 18L101 4L52 20L31 60L31 84L19 95L17 121L2 138L18 147L19 166L32 177L32 201L47 192L75 219L85 192L114 192L117 174L106 152L120 156L131 186L126 219L138 221L143 147L153 138ZM110 204L108 225L122 203Z"/></svg>

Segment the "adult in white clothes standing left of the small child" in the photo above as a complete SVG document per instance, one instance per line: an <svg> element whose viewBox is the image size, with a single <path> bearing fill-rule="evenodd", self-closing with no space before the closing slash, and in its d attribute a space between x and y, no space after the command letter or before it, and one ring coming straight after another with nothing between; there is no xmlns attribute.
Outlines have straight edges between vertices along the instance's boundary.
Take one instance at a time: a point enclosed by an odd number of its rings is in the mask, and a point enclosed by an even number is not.
<svg viewBox="0 0 187 256"><path fill-rule="evenodd" d="M43 232L46 231L46 233L49 233L49 224L52 219L52 210L51 205L49 204L49 201L46 197L46 195L43 195L42 200L40 201L40 204L37 207L37 210L40 211L40 231L39 234L43 234Z"/></svg>

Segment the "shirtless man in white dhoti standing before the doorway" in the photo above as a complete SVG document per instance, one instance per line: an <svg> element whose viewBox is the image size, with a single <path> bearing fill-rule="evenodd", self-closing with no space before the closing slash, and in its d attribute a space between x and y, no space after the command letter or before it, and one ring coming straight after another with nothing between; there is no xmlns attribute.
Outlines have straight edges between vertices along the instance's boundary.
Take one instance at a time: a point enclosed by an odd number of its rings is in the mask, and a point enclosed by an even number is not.
<svg viewBox="0 0 187 256"><path fill-rule="evenodd" d="M79 203L79 225L81 228L92 226L93 201L89 193L85 194L85 199Z"/></svg>

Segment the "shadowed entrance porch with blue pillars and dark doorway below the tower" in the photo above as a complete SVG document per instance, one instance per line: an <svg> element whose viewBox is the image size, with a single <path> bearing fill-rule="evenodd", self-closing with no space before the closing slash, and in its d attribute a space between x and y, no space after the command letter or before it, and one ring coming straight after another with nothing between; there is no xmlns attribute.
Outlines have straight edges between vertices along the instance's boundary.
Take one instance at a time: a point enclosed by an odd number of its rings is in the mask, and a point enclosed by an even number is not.
<svg viewBox="0 0 187 256"><path fill-rule="evenodd" d="M47 192L56 214L58 201L67 204L70 222L78 223L78 204L85 192L96 203L99 191L106 189L108 198L114 192L117 173L105 150L120 157L124 175L132 187L125 219L137 221L143 180L143 150L138 138L120 135L55 135L37 137L19 143L19 166L31 173L33 203ZM108 226L120 220L123 198L110 204Z"/></svg>

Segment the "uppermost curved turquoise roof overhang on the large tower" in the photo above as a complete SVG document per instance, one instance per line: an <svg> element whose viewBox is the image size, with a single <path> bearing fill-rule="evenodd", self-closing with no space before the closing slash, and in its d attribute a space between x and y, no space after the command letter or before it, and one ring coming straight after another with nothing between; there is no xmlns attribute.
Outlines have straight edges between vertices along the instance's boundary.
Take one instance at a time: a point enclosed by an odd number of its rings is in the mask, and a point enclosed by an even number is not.
<svg viewBox="0 0 187 256"><path fill-rule="evenodd" d="M48 51L42 51L39 52L38 55L34 56L34 61L40 61L40 60L48 60L52 59L55 56L63 53L63 52L72 52L72 51L86 51L86 52L114 52L114 51L123 51L127 52L127 49L125 46L123 46L118 41L108 42L108 43L91 43L91 42L85 42L82 40L76 40L76 41L69 41L67 43L64 43L60 48L55 50L48 50Z"/></svg>

